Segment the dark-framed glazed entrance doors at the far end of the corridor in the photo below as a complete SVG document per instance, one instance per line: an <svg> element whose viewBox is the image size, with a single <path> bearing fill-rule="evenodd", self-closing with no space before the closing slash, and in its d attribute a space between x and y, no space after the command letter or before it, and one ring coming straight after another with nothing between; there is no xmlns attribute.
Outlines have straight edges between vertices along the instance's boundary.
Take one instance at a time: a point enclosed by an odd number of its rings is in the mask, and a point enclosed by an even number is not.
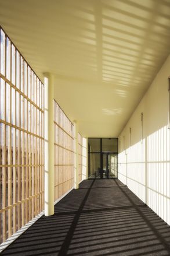
<svg viewBox="0 0 170 256"><path fill-rule="evenodd" d="M117 138L88 138L88 178L117 178L117 159Z"/></svg>

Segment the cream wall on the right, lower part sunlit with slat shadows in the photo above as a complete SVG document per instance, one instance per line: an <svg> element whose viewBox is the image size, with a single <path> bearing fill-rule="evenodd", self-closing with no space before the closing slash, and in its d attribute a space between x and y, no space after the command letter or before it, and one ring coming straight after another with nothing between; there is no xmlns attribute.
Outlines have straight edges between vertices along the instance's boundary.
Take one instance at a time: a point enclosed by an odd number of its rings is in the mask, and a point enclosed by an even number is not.
<svg viewBox="0 0 170 256"><path fill-rule="evenodd" d="M118 178L170 225L169 75L170 55L119 136Z"/></svg>

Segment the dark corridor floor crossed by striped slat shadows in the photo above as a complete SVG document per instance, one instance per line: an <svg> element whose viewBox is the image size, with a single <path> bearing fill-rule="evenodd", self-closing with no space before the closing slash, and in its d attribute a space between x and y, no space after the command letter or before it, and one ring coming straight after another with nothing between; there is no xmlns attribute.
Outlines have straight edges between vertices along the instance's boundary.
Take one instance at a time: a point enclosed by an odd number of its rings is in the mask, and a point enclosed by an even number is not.
<svg viewBox="0 0 170 256"><path fill-rule="evenodd" d="M120 181L85 180L2 255L170 255L170 227Z"/></svg>

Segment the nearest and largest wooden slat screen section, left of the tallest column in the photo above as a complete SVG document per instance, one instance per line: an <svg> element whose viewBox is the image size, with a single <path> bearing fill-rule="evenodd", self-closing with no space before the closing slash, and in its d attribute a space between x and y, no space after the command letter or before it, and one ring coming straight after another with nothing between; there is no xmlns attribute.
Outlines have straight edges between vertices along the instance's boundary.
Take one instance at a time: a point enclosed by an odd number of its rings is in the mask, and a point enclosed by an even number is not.
<svg viewBox="0 0 170 256"><path fill-rule="evenodd" d="M44 85L0 33L2 243L44 209Z"/></svg>

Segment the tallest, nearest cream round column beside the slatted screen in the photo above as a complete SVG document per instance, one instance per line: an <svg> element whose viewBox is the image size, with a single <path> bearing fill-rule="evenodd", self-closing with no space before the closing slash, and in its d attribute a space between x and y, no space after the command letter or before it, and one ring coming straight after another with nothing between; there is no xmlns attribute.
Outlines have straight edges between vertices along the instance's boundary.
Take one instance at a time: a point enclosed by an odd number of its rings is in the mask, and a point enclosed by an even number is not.
<svg viewBox="0 0 170 256"><path fill-rule="evenodd" d="M44 76L44 210L50 216L54 214L54 76Z"/></svg>

